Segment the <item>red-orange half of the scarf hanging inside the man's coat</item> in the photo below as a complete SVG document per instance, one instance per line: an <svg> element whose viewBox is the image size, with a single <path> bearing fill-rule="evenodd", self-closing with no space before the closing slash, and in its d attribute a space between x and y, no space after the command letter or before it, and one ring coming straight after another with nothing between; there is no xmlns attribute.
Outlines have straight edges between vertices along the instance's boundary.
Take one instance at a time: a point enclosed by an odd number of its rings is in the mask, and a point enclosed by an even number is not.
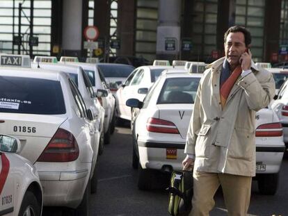
<svg viewBox="0 0 288 216"><path fill-rule="evenodd" d="M236 67L232 74L227 78L227 80L221 85L220 88L220 97L221 97L221 106L224 108L226 100L228 95L230 94L230 91L234 85L234 83L237 81L237 78L240 76L242 72L241 65Z"/></svg>

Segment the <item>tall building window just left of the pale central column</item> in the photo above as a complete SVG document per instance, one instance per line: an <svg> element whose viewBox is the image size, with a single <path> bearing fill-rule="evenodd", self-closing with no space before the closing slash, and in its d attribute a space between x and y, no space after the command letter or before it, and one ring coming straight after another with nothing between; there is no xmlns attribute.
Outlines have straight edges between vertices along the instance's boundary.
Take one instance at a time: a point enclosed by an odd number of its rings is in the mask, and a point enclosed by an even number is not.
<svg viewBox="0 0 288 216"><path fill-rule="evenodd" d="M154 60L156 54L158 0L138 0L136 8L135 54Z"/></svg>

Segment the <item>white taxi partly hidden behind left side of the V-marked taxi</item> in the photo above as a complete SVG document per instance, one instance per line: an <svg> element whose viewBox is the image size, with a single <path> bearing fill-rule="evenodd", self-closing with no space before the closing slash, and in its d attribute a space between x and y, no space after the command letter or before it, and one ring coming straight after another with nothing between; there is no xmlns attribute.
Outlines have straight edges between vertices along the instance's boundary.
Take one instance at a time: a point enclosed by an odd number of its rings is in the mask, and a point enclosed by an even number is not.
<svg viewBox="0 0 288 216"><path fill-rule="evenodd" d="M155 60L153 65L134 69L115 94L119 120L131 121L131 108L126 106L127 99L136 98L143 101L148 89L157 81L164 69L172 68L166 60Z"/></svg>

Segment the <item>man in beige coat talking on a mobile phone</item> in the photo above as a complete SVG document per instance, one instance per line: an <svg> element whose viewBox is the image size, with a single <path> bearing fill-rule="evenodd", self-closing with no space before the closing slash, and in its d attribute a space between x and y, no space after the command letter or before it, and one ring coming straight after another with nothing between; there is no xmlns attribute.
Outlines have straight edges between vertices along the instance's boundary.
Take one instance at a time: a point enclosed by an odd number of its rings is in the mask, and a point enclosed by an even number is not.
<svg viewBox="0 0 288 216"><path fill-rule="evenodd" d="M255 176L255 113L275 94L273 76L251 60L250 32L232 26L225 57L207 66L195 98L183 168L193 167L191 215L209 215L221 185L228 215L247 215Z"/></svg>

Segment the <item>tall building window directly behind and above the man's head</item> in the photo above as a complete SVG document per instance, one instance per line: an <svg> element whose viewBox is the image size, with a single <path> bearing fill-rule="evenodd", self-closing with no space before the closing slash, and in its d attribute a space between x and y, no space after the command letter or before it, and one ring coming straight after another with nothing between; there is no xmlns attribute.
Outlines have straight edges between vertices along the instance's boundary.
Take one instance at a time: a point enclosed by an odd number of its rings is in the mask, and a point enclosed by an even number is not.
<svg viewBox="0 0 288 216"><path fill-rule="evenodd" d="M237 0L235 25L248 28L251 33L253 60L262 62L264 56L265 0Z"/></svg>

